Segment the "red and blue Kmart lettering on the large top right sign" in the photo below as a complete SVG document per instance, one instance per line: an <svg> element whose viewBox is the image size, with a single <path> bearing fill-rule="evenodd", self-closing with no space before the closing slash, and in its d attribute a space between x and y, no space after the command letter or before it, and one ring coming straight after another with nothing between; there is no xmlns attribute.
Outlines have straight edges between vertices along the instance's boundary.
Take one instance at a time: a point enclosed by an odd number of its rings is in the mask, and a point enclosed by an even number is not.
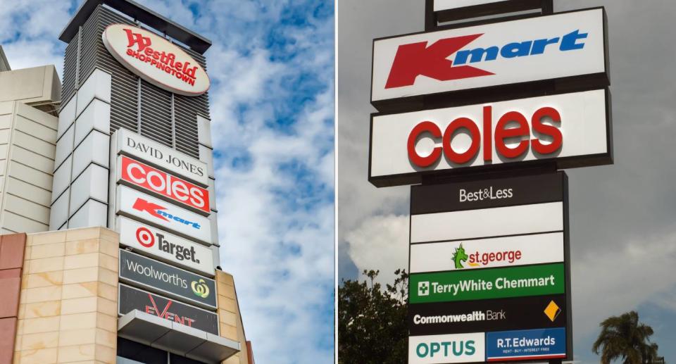
<svg viewBox="0 0 676 364"><path fill-rule="evenodd" d="M429 45L428 42L401 44L394 56L385 89L411 86L415 84L415 79L418 76L449 81L494 75L494 73L467 64L495 61L499 57L537 56L556 50L561 52L575 51L584 48L582 39L587 38L587 33L574 30L562 37L551 39L522 40L473 49L467 47L468 44L482 35L472 34L439 39ZM455 57L452 60L449 59L453 54L455 54Z"/></svg>

